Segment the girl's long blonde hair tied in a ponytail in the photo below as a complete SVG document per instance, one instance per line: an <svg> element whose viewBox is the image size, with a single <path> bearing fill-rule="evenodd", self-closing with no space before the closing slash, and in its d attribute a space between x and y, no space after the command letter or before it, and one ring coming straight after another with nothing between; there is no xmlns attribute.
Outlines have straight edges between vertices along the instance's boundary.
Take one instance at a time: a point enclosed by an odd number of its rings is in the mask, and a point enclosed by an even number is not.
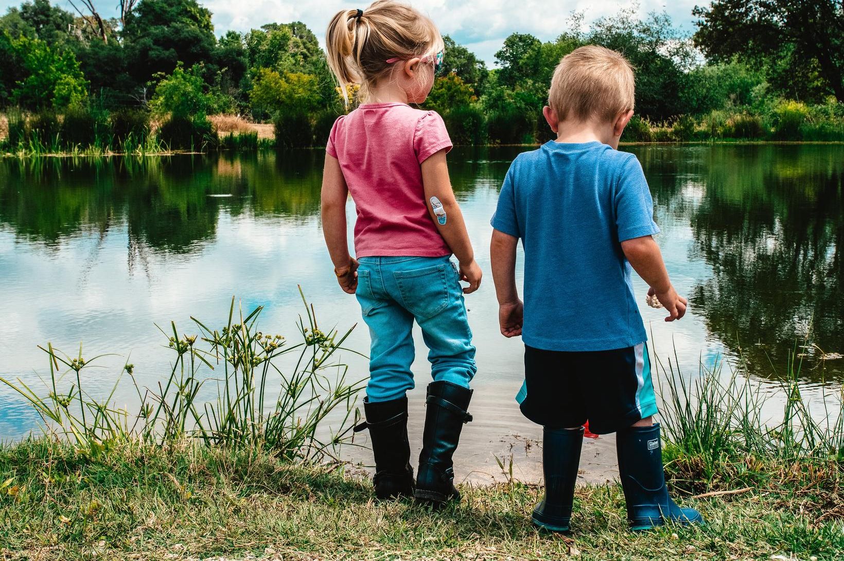
<svg viewBox="0 0 844 561"><path fill-rule="evenodd" d="M444 47L430 18L392 0L338 12L328 24L325 43L328 67L347 105L349 85L359 84L358 99L365 100L370 84L392 69L388 59L422 57Z"/></svg>

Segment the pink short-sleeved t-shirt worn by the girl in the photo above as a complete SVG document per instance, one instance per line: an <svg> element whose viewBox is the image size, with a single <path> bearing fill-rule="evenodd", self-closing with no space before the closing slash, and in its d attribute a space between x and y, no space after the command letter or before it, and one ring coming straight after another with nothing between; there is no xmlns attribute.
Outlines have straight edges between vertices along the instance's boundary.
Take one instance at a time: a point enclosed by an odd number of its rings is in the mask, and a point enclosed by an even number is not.
<svg viewBox="0 0 844 561"><path fill-rule="evenodd" d="M334 123L326 151L337 158L357 207L358 257L451 255L425 202L422 162L450 150L436 111L403 103L360 105Z"/></svg>

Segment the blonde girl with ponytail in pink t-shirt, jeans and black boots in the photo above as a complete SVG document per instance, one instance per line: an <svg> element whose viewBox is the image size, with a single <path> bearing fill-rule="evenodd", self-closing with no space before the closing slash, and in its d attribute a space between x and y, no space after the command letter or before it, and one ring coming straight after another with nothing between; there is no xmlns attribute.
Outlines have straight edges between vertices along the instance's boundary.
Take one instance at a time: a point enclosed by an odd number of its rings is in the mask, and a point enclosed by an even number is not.
<svg viewBox="0 0 844 561"><path fill-rule="evenodd" d="M334 272L340 287L357 295L372 339L366 419L355 431L370 431L379 499L459 500L452 455L463 423L472 420L469 380L476 370L463 294L478 289L481 271L448 178L445 124L435 111L408 105L427 98L443 41L414 8L381 0L335 15L326 45L344 100L356 84L362 102L334 123L322 178L322 229ZM358 215L357 260L346 240L349 193ZM415 486L406 396L414 387L414 320L434 379Z"/></svg>

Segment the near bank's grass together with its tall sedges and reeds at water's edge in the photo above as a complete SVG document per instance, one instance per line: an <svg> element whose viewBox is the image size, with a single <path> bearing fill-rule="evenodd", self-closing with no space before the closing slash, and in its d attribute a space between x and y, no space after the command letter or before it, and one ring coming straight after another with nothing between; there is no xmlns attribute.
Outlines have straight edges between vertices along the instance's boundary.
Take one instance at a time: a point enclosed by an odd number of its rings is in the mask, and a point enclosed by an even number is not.
<svg viewBox="0 0 844 561"><path fill-rule="evenodd" d="M655 357L668 484L706 526L631 533L608 483L578 488L563 536L530 524L542 488L511 472L463 485L463 502L441 510L376 503L368 477L337 454L363 387L338 359L354 352L343 348L350 330L323 332L303 310L299 343L262 333L261 309L245 315L234 300L221 328L161 330L173 370L154 388L137 379L143 365L126 363L111 393L91 396L102 357L49 344L43 391L0 380L49 427L0 445L3 558L811 561L844 550L844 396L825 393L823 418L810 413L799 359L779 375L787 399L771 420L761 413L770 388L741 364L689 376ZM137 392L131 411L113 403L119 384Z"/></svg>

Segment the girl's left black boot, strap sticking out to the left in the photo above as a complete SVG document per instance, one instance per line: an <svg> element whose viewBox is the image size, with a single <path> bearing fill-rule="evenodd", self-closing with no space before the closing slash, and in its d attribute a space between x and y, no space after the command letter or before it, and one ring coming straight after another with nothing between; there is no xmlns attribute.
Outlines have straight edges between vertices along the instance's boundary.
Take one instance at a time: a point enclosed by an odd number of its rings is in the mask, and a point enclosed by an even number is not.
<svg viewBox="0 0 844 561"><path fill-rule="evenodd" d="M354 432L369 429L375 456L375 495L378 499L396 499L414 494L414 470L410 467L408 442L408 398L370 403L364 398L366 421Z"/></svg>

